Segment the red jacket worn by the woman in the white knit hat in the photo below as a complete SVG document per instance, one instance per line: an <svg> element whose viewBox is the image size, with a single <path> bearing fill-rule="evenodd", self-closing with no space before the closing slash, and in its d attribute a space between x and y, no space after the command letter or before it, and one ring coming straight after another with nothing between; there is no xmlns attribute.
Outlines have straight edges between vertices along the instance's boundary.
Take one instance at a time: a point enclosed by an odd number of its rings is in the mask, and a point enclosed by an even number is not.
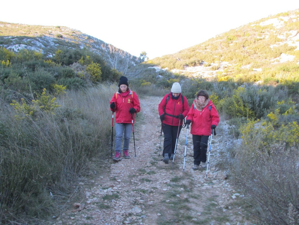
<svg viewBox="0 0 299 225"><path fill-rule="evenodd" d="M169 100L166 103L167 96L169 96ZM184 104L182 103L181 93L180 93L178 99L173 99L171 97L171 92L163 97L163 99L161 100L161 102L158 105L159 115L161 116L161 114L164 114L165 119L163 120L163 123L171 125L171 126L179 126L180 119L177 116L179 116L179 114L183 114L184 117L186 117L187 113L189 111L189 105L188 105L187 98L185 96L183 96L183 98L184 98ZM164 108L165 108L165 111L164 111ZM169 115L167 115L167 114L169 114ZM172 115L172 116L170 116L170 115ZM182 125L182 124L183 124L183 121L181 121L180 125Z"/></svg>

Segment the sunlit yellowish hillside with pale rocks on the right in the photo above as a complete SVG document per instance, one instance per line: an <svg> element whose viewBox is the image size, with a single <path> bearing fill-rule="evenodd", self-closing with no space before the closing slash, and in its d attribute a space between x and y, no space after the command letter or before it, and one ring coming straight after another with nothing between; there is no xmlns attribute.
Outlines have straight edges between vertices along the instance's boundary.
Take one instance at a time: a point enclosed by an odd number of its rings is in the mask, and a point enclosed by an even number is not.
<svg viewBox="0 0 299 225"><path fill-rule="evenodd" d="M299 10L260 19L150 61L174 73L236 78L298 71ZM244 79L244 77L243 77Z"/></svg>

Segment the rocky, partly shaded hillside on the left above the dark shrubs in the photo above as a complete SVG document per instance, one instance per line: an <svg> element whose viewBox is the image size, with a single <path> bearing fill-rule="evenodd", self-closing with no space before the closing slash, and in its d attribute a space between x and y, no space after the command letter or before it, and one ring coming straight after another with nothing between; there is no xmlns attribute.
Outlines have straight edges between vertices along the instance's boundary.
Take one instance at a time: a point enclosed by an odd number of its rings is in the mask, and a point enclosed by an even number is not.
<svg viewBox="0 0 299 225"><path fill-rule="evenodd" d="M17 51L41 51L51 57L58 48L87 48L109 59L109 47L129 55L132 63L140 63L136 56L82 32L63 26L26 25L0 21L0 46Z"/></svg>

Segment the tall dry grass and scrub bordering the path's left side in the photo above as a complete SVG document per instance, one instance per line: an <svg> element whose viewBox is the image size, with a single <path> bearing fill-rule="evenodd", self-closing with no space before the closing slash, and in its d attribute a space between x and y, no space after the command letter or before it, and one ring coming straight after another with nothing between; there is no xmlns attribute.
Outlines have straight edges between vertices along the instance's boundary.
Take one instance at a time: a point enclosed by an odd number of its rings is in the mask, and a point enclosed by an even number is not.
<svg viewBox="0 0 299 225"><path fill-rule="evenodd" d="M114 89L67 91L56 100L42 93L32 103L13 100L12 107L1 101L1 224L57 215L70 196L80 194L78 180L108 154L105 105Z"/></svg>

